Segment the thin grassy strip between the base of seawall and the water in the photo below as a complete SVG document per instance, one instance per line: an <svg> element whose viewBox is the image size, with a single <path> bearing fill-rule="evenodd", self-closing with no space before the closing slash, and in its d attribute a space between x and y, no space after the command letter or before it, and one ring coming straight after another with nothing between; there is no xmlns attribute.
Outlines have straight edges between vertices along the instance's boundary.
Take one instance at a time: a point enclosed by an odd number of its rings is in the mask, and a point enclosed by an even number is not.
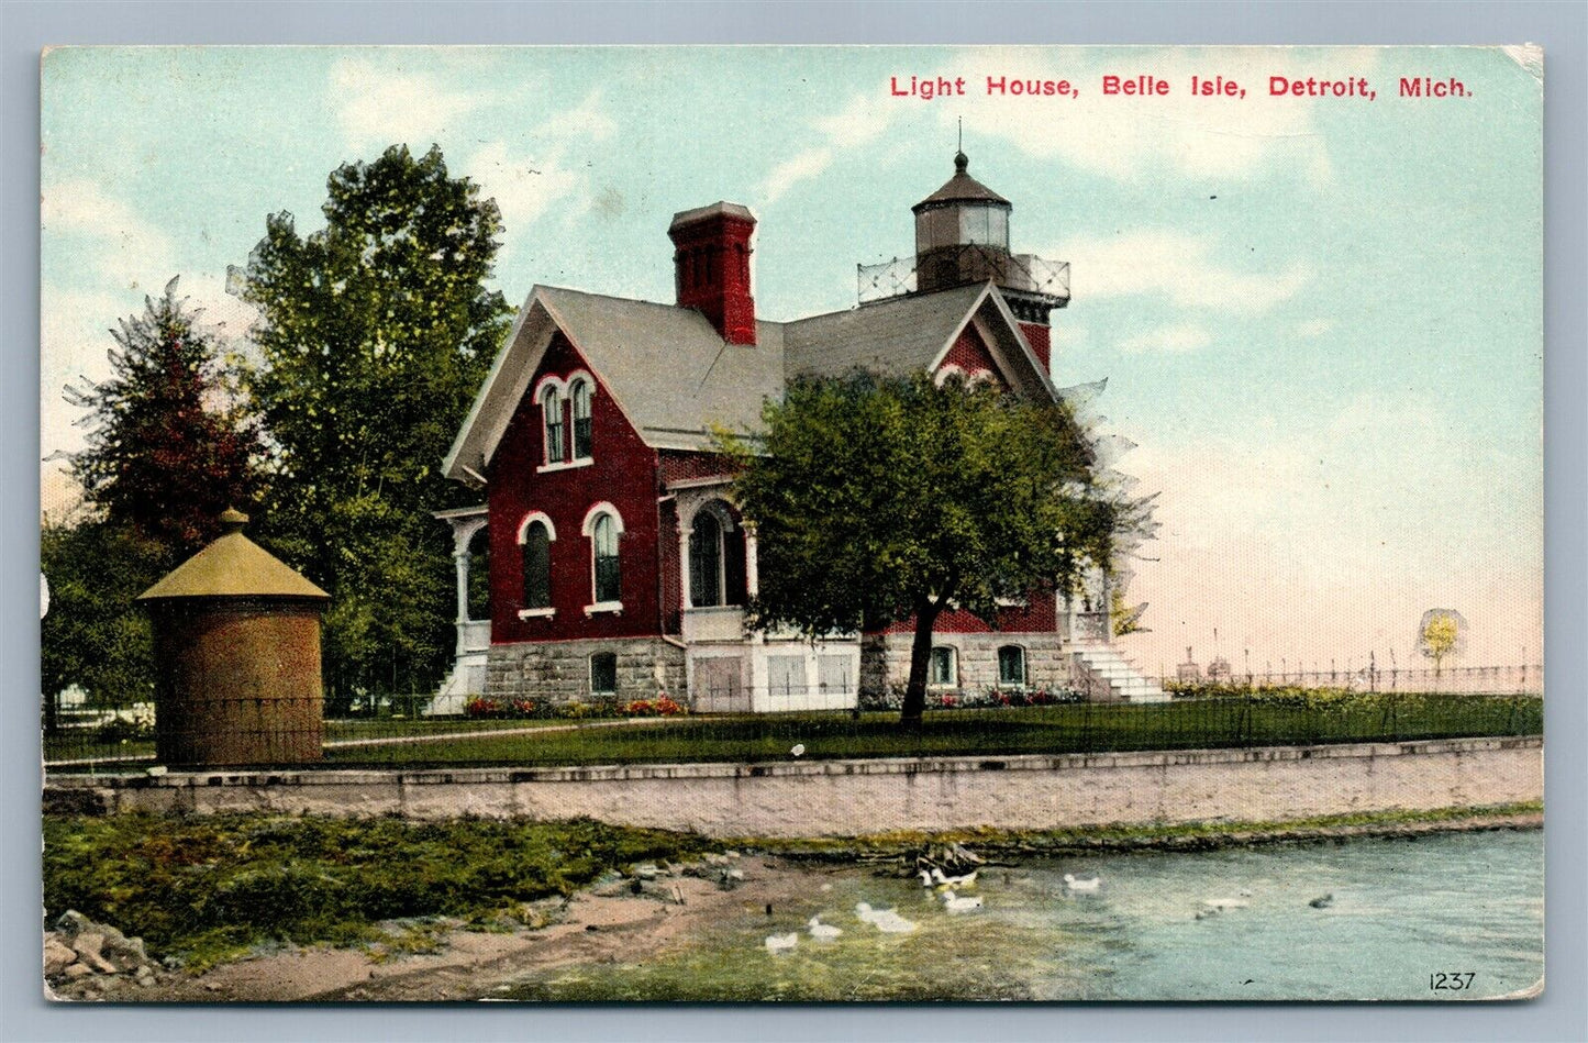
<svg viewBox="0 0 1588 1043"><path fill-rule="evenodd" d="M978 852L1046 854L1083 849L1175 848L1210 849L1255 843L1316 840L1345 832L1394 833L1401 829L1504 821L1544 813L1537 800L1475 808L1388 810L1321 814L1301 819L1247 822L1174 822L1142 826L1075 826L1067 829L961 829L945 832L899 830L864 837L740 837L730 843L788 857L843 862L915 854L931 845L959 843Z"/></svg>

